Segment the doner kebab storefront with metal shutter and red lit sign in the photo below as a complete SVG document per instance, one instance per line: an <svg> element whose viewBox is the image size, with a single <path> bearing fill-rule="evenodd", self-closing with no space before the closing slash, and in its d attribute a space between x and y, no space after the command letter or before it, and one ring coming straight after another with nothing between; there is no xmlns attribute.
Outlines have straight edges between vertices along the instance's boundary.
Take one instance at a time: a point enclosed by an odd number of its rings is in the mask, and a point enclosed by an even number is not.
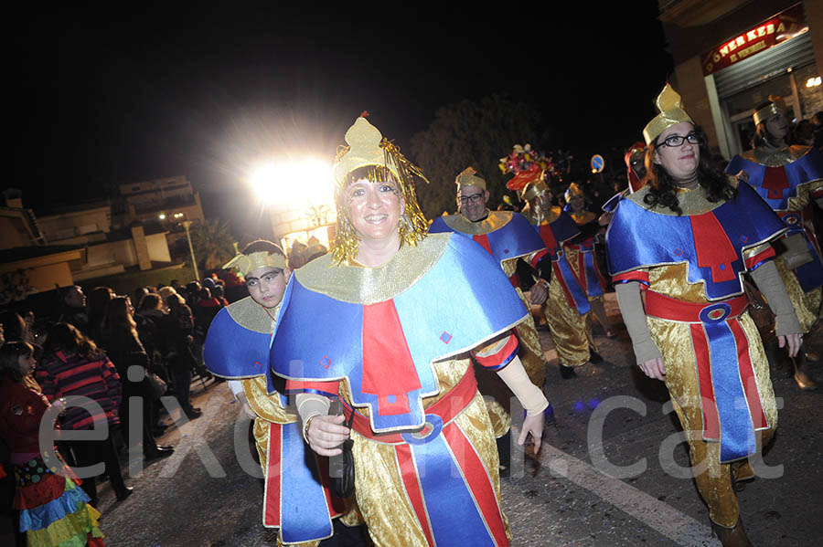
<svg viewBox="0 0 823 547"><path fill-rule="evenodd" d="M751 148L754 109L769 95L786 100L795 122L823 110L821 5L683 0L661 7L674 83L726 159Z"/></svg>

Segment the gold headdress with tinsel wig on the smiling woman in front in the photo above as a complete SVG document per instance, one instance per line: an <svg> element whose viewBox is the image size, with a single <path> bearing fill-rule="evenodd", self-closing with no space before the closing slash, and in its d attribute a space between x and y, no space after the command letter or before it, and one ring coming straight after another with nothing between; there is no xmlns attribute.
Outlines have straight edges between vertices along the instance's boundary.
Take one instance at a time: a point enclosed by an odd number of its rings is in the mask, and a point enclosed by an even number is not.
<svg viewBox="0 0 823 547"><path fill-rule="evenodd" d="M346 131L348 146L337 149L335 161L335 203L337 205L337 237L331 244L332 256L337 262L352 259L358 255L358 235L351 226L346 213L344 191L347 185L347 175L360 167L374 166L387 169L396 179L405 204L405 212L398 227L401 244L416 245L426 237L429 223L417 203L414 192L414 179L419 178L426 183L429 180L422 174L420 167L414 165L403 156L400 147L384 139L375 126L363 116L359 117ZM379 169L375 172L380 177Z"/></svg>

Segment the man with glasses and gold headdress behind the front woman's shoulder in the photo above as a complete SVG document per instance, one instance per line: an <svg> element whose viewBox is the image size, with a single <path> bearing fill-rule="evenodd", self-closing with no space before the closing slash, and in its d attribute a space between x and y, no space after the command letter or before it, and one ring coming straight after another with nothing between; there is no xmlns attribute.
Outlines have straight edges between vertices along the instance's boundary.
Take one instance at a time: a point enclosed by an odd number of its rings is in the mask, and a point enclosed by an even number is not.
<svg viewBox="0 0 823 547"><path fill-rule="evenodd" d="M457 185L459 214L438 216L429 226L429 233L454 232L463 237L470 237L497 260L527 310L532 303L542 303L546 299L545 285L539 283L532 287L531 301L526 300L519 287L518 259L528 258L543 248L542 240L534 233L529 221L513 211L489 211L486 206L489 198L486 179L477 173L474 167L466 167L457 175L454 184ZM526 321L518 325L517 333L520 341L520 361L531 382L541 388L546 380L546 361L540 345L540 334L530 313ZM508 401L511 393L497 374L490 373L482 367L478 368L476 373L480 393L493 398L487 401L488 411L499 439L497 449L501 465L508 468ZM553 415L551 417L553 418Z"/></svg>

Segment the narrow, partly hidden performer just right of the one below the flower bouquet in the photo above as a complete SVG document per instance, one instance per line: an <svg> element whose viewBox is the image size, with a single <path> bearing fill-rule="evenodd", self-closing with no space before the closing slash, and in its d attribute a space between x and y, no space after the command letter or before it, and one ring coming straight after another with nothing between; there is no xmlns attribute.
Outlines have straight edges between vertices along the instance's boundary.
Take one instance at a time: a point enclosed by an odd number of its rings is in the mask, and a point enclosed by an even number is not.
<svg viewBox="0 0 823 547"><path fill-rule="evenodd" d="M578 184L570 184L563 197L566 200L563 211L572 216L580 229L580 234L565 246L570 254L572 251L577 253L577 260L570 258L574 275L580 279L580 285L585 290L594 316L603 326L605 335L614 338L612 323L603 303L606 280L597 263L597 238L602 237L598 235L600 225L597 223L597 216L589 210L586 195Z"/></svg>

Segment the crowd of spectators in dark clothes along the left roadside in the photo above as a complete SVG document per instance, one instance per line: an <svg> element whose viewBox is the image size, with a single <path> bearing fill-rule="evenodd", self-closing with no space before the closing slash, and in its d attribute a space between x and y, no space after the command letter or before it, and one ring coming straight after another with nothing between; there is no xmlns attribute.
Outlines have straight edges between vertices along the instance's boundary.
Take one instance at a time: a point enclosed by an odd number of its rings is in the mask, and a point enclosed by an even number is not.
<svg viewBox="0 0 823 547"><path fill-rule="evenodd" d="M32 311L0 310L0 346L21 342L32 348L36 364L26 380L29 387L52 405L71 395L97 403L90 408L69 405L59 416L62 430L99 429L102 422L107 426L108 435L102 440L63 442L58 437L59 455L69 465L105 463L104 475L80 484L92 506L98 503L102 477L111 483L117 500L132 495L121 468L125 458L139 458L142 453L148 464L174 452L174 447L156 440L176 424L176 420L164 421L164 414L178 416L168 399L160 401L162 395L175 397L180 416L188 420L201 416L191 402L192 382L220 381L202 363L208 326L220 309L247 294L242 279L227 274L185 286L173 280L167 286L138 287L132 295L96 287L87 298L80 286L61 288L53 313L38 318L37 327ZM129 405L133 397L140 405ZM134 408L142 408L142 419L129 416ZM13 438L2 437L0 509L4 520L11 522L15 483L9 457L16 447ZM21 538L18 534L18 541Z"/></svg>

